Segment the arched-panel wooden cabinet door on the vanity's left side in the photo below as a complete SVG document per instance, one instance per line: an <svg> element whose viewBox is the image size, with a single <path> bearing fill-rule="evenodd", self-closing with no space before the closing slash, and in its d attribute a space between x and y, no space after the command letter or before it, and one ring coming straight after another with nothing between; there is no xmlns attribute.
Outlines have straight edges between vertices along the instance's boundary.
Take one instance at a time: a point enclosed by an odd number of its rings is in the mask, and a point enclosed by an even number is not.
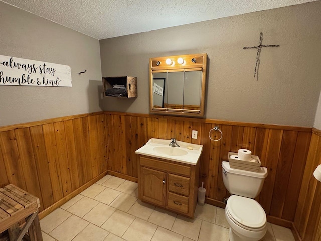
<svg viewBox="0 0 321 241"><path fill-rule="evenodd" d="M142 200L159 206L166 204L166 172L140 167Z"/></svg>

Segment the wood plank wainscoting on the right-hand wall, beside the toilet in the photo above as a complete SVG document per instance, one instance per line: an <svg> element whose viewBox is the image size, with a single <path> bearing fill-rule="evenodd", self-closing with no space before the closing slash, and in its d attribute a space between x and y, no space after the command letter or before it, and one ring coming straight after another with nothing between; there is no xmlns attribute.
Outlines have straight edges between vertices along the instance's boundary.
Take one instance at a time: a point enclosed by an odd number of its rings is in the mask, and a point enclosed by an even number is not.
<svg viewBox="0 0 321 241"><path fill-rule="evenodd" d="M321 182L312 176L321 164L321 131L313 128L312 132L294 218L294 226L303 241L321 240Z"/></svg>

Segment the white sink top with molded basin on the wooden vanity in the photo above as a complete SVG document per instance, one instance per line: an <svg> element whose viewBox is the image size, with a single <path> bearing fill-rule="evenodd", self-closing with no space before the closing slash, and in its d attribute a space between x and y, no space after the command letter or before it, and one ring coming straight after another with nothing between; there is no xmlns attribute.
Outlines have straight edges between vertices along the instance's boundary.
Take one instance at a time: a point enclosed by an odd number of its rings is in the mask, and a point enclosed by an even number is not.
<svg viewBox="0 0 321 241"><path fill-rule="evenodd" d="M135 153L191 165L197 164L203 150L202 145L176 141L180 147L171 147L170 142L171 140L167 139L151 138Z"/></svg>

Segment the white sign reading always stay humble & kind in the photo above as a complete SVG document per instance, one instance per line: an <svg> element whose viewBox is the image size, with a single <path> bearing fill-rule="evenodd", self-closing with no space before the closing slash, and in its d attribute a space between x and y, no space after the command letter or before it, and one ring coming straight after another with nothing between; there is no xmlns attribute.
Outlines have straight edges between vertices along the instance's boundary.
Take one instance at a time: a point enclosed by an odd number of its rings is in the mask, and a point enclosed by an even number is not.
<svg viewBox="0 0 321 241"><path fill-rule="evenodd" d="M0 55L0 85L72 87L70 66Z"/></svg>

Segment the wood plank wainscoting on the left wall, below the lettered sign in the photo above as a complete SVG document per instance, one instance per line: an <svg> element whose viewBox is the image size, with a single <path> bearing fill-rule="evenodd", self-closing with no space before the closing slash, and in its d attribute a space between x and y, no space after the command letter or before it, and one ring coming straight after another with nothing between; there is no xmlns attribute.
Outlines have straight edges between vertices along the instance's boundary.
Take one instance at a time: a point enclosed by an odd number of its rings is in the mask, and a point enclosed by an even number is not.
<svg viewBox="0 0 321 241"><path fill-rule="evenodd" d="M102 112L0 127L0 187L13 183L46 209L107 170L105 131Z"/></svg>

